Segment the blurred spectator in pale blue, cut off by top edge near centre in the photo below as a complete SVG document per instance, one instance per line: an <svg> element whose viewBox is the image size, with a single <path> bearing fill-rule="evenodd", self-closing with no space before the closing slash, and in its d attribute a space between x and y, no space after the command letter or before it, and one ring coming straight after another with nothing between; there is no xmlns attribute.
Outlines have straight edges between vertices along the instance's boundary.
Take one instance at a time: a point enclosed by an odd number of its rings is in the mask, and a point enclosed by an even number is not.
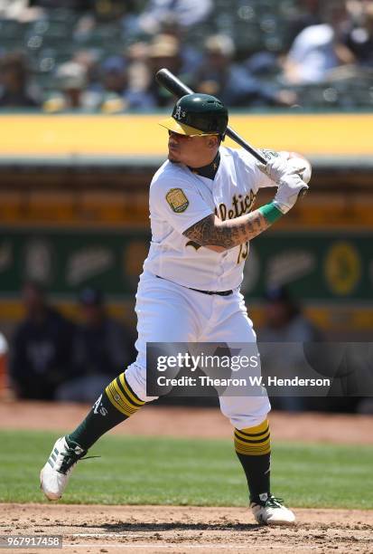
<svg viewBox="0 0 373 554"><path fill-rule="evenodd" d="M145 33L159 33L163 21L171 15L182 27L190 27L204 21L212 5L212 0L149 0L138 24Z"/></svg>

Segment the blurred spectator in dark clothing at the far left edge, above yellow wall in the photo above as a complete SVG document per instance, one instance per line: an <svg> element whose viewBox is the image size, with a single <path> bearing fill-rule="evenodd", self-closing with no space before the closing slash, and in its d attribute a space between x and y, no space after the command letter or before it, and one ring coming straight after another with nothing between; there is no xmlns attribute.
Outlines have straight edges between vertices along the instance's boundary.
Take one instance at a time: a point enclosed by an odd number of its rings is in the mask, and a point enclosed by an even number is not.
<svg viewBox="0 0 373 554"><path fill-rule="evenodd" d="M0 107L35 108L38 100L31 92L23 53L8 53L0 60Z"/></svg>

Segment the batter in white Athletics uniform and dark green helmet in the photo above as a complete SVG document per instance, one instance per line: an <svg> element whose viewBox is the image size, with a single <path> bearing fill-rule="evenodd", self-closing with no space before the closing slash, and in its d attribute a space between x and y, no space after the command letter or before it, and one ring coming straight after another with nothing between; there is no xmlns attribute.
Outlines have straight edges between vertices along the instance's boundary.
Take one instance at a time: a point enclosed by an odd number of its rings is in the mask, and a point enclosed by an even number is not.
<svg viewBox="0 0 373 554"><path fill-rule="evenodd" d="M150 186L152 241L135 307L138 355L54 444L41 473L50 500L61 498L71 470L101 435L154 400L146 396L147 342L256 341L239 291L249 241L294 206L306 186L301 176L310 177L304 158L294 169L287 156L266 152L261 167L245 150L221 146L228 111L213 96L183 96L161 125L169 155ZM251 211L262 186L276 186L274 200ZM268 398L222 395L219 403L234 427L256 521L293 523L294 513L270 490Z"/></svg>

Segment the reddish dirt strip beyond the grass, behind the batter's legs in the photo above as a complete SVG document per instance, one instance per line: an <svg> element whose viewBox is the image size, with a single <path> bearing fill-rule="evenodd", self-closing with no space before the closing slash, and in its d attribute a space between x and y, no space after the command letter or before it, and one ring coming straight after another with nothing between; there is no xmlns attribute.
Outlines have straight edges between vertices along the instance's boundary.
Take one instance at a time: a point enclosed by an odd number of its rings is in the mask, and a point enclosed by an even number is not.
<svg viewBox="0 0 373 554"><path fill-rule="evenodd" d="M45 402L0 402L0 428L68 432L86 416L89 407ZM373 444L373 416L271 412L270 422L273 440ZM150 405L110 433L230 438L232 427L216 408Z"/></svg>

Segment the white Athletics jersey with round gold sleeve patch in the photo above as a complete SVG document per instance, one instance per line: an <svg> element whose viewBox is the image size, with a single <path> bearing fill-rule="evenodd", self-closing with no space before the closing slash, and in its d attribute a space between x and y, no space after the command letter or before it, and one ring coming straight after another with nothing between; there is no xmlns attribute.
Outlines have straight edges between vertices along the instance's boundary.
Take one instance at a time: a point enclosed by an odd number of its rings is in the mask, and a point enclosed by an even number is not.
<svg viewBox="0 0 373 554"><path fill-rule="evenodd" d="M201 291L228 291L240 285L248 243L216 253L182 233L212 213L222 221L247 214L258 189L275 186L246 150L219 151L214 180L166 161L150 186L152 242L144 269Z"/></svg>

